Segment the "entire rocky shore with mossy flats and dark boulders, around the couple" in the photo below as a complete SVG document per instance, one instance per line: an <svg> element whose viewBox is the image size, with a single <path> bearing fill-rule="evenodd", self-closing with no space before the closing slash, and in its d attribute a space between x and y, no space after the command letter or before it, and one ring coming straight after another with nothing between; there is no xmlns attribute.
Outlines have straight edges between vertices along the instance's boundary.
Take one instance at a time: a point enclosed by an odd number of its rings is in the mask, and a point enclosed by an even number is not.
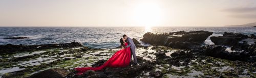
<svg viewBox="0 0 256 78"><path fill-rule="evenodd" d="M89 70L77 75L74 67L100 66L119 48L90 49L77 42L48 45L2 45L0 77L256 77L256 46L245 40L254 34L178 31L145 33L138 46L138 65ZM14 47L12 49L12 47ZM38 48L38 49L37 49Z"/></svg>

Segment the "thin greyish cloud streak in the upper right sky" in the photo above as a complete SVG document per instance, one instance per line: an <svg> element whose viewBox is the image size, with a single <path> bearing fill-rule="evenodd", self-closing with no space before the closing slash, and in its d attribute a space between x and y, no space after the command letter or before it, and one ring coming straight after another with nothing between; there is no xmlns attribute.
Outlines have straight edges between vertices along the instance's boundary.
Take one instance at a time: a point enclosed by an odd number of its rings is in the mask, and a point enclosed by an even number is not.
<svg viewBox="0 0 256 78"><path fill-rule="evenodd" d="M256 7L251 8L229 8L225 9L225 12L232 12L232 13L248 13L248 12L256 12Z"/></svg>

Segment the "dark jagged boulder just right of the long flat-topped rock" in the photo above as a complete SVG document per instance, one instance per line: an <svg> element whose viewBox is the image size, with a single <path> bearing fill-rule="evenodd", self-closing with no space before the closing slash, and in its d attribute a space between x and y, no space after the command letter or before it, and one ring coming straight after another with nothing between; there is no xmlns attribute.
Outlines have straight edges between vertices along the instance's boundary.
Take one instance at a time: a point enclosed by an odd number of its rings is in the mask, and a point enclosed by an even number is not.
<svg viewBox="0 0 256 78"><path fill-rule="evenodd" d="M249 36L242 33L224 32L223 36L211 36L210 40L215 45L236 46L239 44L239 41L246 38L249 38Z"/></svg>

